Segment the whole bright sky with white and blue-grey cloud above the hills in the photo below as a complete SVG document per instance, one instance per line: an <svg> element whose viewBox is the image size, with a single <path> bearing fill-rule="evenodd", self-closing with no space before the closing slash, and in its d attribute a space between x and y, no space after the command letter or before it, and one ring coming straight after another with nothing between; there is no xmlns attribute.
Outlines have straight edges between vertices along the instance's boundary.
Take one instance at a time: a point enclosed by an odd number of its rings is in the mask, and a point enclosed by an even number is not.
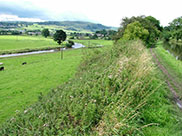
<svg viewBox="0 0 182 136"><path fill-rule="evenodd" d="M89 21L119 27L122 18L153 16L166 26L182 0L0 0L0 21Z"/></svg>

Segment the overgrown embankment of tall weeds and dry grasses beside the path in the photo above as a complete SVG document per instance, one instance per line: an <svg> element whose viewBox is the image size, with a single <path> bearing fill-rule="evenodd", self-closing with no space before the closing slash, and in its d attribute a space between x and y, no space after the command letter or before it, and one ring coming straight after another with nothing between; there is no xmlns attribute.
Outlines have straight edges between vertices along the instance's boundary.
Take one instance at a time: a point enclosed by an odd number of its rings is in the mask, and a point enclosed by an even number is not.
<svg viewBox="0 0 182 136"><path fill-rule="evenodd" d="M0 135L152 135L179 123L141 42L85 53L74 79L17 113Z"/></svg>

